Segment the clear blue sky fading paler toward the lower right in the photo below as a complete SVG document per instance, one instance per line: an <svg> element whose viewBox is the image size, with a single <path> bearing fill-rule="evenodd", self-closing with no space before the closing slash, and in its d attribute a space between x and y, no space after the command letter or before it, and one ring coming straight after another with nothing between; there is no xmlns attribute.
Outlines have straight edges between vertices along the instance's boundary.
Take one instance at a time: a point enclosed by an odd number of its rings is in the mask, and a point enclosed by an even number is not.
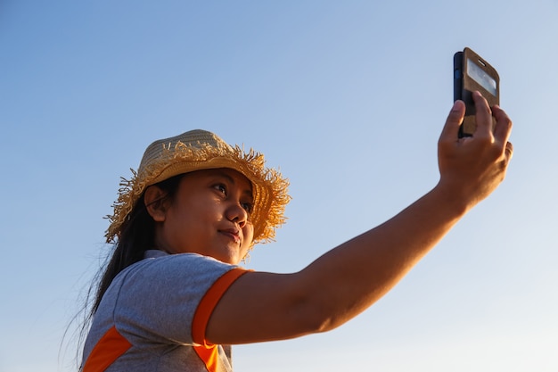
<svg viewBox="0 0 558 372"><path fill-rule="evenodd" d="M435 185L464 46L500 72L505 183L373 308L236 347L235 368L558 370L557 19L556 0L3 1L0 371L72 370L103 216L152 140L206 128L265 153L293 200L247 266L302 269Z"/></svg>

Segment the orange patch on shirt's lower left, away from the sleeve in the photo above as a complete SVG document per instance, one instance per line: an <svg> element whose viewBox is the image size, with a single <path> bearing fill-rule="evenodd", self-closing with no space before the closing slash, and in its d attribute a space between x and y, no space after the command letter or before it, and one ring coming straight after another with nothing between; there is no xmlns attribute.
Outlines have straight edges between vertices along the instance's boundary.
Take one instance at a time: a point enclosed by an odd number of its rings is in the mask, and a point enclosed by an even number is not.
<svg viewBox="0 0 558 372"><path fill-rule="evenodd" d="M94 346L83 367L83 372L101 372L119 359L130 347L131 343L119 334L116 327L112 326L101 340Z"/></svg>

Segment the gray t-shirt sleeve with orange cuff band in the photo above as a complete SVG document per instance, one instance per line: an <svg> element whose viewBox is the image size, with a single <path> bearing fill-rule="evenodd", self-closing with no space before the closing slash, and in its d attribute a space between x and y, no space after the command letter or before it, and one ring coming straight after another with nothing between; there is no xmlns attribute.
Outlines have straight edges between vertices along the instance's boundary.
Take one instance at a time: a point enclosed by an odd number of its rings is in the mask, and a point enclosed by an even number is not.
<svg viewBox="0 0 558 372"><path fill-rule="evenodd" d="M136 345L205 344L212 311L245 272L191 253L144 260L121 278L114 323Z"/></svg>

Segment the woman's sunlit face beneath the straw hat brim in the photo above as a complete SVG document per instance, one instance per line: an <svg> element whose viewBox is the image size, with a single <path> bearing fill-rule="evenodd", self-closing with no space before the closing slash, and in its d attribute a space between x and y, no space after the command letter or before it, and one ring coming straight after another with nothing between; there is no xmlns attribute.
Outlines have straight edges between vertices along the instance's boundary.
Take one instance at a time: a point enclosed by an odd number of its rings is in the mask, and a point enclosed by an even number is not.
<svg viewBox="0 0 558 372"><path fill-rule="evenodd" d="M156 243L170 253L195 252L237 264L254 236L252 203L250 181L236 170L187 173L158 224Z"/></svg>

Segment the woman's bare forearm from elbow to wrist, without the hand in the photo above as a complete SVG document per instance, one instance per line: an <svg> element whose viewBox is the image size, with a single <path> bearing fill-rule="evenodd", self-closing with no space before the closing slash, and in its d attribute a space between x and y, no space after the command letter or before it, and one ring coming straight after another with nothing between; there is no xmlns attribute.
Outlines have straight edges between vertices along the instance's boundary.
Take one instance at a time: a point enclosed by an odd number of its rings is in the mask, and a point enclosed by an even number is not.
<svg viewBox="0 0 558 372"><path fill-rule="evenodd" d="M337 327L387 293L470 208L451 190L430 193L379 227L325 253L300 272L308 311Z"/></svg>

